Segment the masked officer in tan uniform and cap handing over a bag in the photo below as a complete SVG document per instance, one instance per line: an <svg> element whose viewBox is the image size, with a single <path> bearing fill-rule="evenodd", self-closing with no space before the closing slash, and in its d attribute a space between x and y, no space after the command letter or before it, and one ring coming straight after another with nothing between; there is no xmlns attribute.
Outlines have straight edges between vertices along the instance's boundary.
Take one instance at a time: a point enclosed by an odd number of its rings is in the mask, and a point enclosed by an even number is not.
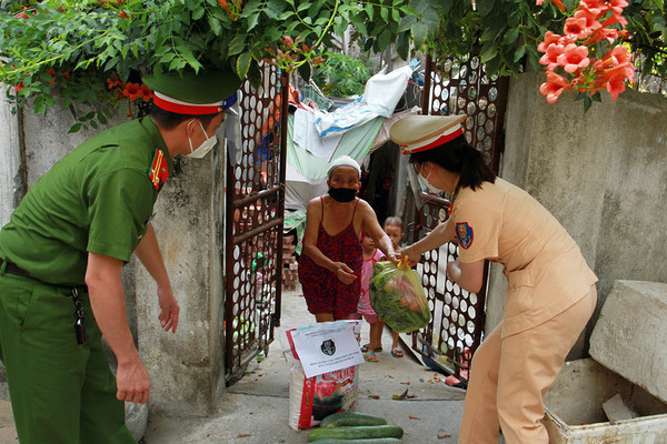
<svg viewBox="0 0 667 444"><path fill-rule="evenodd" d="M485 260L505 265L505 315L476 351L460 427L461 444L547 444L542 396L597 302L597 278L558 221L519 188L496 178L464 137L465 115L414 115L391 140L410 154L431 192L452 196L449 219L404 249L412 261L456 240L449 279L477 292Z"/></svg>

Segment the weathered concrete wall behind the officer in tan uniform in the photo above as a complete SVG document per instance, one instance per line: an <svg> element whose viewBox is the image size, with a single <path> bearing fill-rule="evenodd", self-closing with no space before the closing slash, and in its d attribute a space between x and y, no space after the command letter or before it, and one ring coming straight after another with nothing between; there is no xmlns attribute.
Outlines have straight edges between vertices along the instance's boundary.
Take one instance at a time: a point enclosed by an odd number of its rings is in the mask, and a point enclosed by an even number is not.
<svg viewBox="0 0 667 444"><path fill-rule="evenodd" d="M667 98L628 90L614 102L604 92L585 113L575 94L547 103L538 92L542 79L526 73L510 81L500 175L577 241L600 280L599 311L617 279L667 282ZM502 315L500 270L491 271L487 327ZM573 355L585 352L585 342Z"/></svg>

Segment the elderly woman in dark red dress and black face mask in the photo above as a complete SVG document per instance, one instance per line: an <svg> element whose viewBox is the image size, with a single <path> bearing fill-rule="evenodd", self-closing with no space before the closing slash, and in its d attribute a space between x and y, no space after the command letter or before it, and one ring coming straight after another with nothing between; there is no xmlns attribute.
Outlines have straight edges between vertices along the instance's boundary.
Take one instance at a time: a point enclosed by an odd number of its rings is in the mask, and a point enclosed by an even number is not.
<svg viewBox="0 0 667 444"><path fill-rule="evenodd" d="M329 192L308 202L299 282L317 322L352 319L359 303L364 256L361 230L387 258L396 261L389 236L370 205L358 199L361 168L349 155L331 163Z"/></svg>

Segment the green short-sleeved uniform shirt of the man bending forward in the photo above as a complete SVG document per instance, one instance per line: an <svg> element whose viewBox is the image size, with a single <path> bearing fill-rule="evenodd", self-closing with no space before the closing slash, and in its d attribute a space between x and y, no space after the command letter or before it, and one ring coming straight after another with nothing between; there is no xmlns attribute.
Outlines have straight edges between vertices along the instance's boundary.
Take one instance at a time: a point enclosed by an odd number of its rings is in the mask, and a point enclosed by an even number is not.
<svg viewBox="0 0 667 444"><path fill-rule="evenodd" d="M88 252L129 261L146 233L161 182L151 167L161 150L150 118L111 128L62 158L28 191L0 232L0 258L40 281L82 285ZM162 178L166 174L162 172Z"/></svg>

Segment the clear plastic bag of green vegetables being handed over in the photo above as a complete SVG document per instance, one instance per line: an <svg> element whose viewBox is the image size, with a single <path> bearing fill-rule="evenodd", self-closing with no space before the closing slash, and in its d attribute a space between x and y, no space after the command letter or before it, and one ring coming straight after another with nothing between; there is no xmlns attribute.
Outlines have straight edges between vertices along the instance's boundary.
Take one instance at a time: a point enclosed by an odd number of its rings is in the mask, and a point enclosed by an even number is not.
<svg viewBox="0 0 667 444"><path fill-rule="evenodd" d="M430 322L430 310L416 271L404 262L376 262L370 279L370 306L391 330L409 333Z"/></svg>

